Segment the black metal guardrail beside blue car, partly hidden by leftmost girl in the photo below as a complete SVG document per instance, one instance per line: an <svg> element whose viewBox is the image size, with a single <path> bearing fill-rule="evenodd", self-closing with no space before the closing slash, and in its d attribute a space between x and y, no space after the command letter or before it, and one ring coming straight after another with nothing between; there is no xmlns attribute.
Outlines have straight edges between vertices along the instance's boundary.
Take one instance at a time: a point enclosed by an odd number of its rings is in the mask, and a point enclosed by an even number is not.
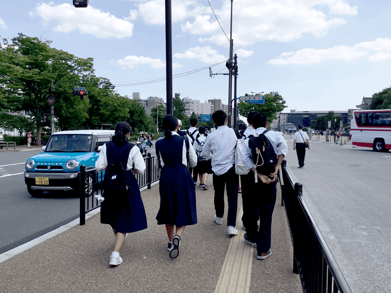
<svg viewBox="0 0 391 293"><path fill-rule="evenodd" d="M155 167L154 160L155 157L152 157L151 153L144 158L146 166L144 174L135 175L139 188L147 186L151 189L151 184L159 180L160 170ZM80 178L84 178L80 180L80 225L84 225L86 213L101 206L101 202L96 200L94 195L100 194L102 188L100 188L101 180L95 168L86 170L86 166L80 166Z"/></svg>

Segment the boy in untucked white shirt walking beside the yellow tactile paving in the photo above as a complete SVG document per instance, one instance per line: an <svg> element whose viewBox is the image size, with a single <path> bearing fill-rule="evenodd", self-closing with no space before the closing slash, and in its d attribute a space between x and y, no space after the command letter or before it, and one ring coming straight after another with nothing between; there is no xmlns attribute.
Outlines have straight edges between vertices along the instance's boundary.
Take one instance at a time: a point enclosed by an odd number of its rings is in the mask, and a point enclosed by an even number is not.
<svg viewBox="0 0 391 293"><path fill-rule="evenodd" d="M227 189L228 235L238 235L236 230L236 214L238 211L239 175L235 173L235 149L238 138L234 129L228 128L227 114L217 110L212 114L217 129L206 138L202 156L212 158L213 186L215 188L215 222L222 224L224 215L224 188ZM213 157L212 157L212 152Z"/></svg>

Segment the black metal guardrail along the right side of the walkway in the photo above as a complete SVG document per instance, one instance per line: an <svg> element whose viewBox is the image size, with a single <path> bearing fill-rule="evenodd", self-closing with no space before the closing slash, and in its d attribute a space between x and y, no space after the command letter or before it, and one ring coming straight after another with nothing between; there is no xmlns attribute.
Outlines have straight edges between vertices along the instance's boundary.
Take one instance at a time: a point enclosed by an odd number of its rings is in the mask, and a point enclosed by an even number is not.
<svg viewBox="0 0 391 293"><path fill-rule="evenodd" d="M293 272L300 275L304 293L351 293L303 200L303 186L295 183L282 162L282 201L293 244Z"/></svg>

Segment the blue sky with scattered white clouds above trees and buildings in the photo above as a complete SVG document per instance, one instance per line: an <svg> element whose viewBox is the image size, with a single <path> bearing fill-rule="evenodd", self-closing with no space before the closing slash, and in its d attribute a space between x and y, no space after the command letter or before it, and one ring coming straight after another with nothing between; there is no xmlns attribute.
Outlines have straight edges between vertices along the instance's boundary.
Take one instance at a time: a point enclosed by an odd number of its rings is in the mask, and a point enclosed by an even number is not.
<svg viewBox="0 0 391 293"><path fill-rule="evenodd" d="M233 0L232 9L238 97L274 91L284 112L345 111L391 86L389 0ZM228 104L230 14L231 0L172 0L173 94ZM0 37L18 33L92 57L123 96L166 100L164 0L2 1Z"/></svg>

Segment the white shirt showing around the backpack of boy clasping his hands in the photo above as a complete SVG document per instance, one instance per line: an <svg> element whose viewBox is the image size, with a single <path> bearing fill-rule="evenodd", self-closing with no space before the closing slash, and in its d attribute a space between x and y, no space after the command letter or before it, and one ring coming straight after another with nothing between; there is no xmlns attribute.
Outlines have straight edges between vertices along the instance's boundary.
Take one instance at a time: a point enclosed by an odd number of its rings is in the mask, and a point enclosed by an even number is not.
<svg viewBox="0 0 391 293"><path fill-rule="evenodd" d="M263 131L265 130L266 128L259 127L255 129L255 133L262 134ZM288 153L288 145L286 144L286 141L282 136L281 132L270 130L265 133L265 136L269 139L270 143L272 144L274 151L277 153L277 157L281 154L284 155L284 157L286 157L286 154ZM244 140L244 144L241 152L243 157L242 159L243 164L247 170L250 170L252 167L254 167L254 161L253 158L251 157L251 149L248 146L248 141L249 141L248 139Z"/></svg>

